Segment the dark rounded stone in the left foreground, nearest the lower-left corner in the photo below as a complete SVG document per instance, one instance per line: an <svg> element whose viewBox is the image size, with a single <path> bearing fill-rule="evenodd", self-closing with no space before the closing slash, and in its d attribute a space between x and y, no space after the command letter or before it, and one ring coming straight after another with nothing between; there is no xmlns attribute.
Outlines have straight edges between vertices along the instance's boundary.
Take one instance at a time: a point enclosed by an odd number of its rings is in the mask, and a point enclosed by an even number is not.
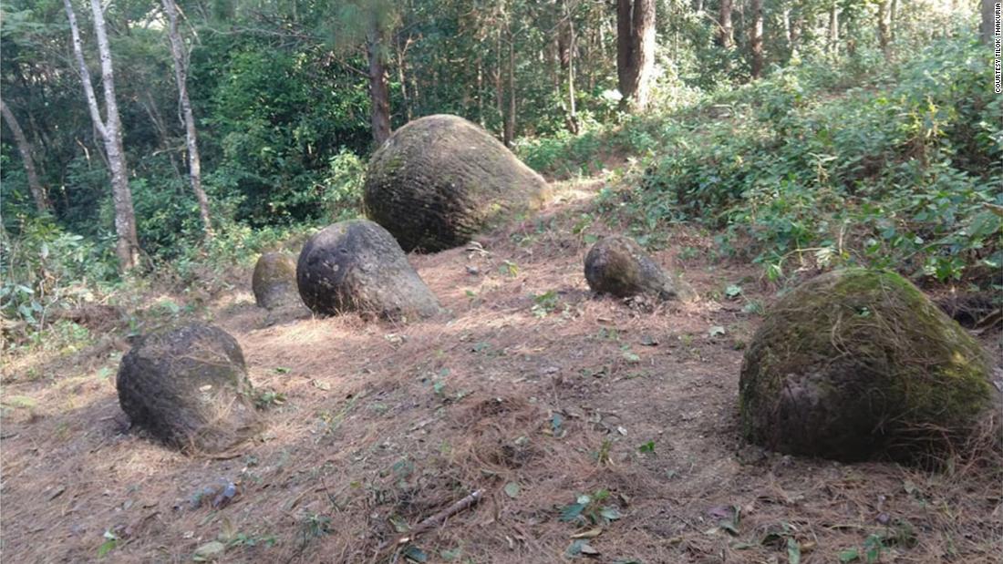
<svg viewBox="0 0 1003 564"><path fill-rule="evenodd" d="M224 452L259 429L240 345L216 327L140 338L122 357L117 388L134 427L186 451Z"/></svg>

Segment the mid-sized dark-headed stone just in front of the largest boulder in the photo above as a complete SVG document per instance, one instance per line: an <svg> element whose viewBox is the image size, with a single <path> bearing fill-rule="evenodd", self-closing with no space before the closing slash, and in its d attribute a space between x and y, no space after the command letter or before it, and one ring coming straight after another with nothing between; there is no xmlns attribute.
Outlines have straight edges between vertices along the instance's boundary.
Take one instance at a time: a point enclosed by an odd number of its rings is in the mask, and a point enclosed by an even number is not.
<svg viewBox="0 0 1003 564"><path fill-rule="evenodd" d="M365 219L340 221L310 237L296 281L315 314L358 312L400 321L439 312L438 300L393 236Z"/></svg>

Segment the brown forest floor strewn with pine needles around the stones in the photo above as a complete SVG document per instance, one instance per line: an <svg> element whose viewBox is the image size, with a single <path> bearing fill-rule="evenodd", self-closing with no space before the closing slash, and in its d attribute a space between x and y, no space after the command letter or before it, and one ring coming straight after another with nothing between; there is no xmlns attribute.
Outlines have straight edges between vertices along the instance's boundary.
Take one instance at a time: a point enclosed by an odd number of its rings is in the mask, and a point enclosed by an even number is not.
<svg viewBox="0 0 1003 564"><path fill-rule="evenodd" d="M656 257L701 301L593 296L586 234L610 227L573 227L596 213L602 184L562 184L538 218L479 247L412 255L450 312L440 319L267 313L250 271L235 271L240 284L200 317L237 338L254 385L277 395L267 430L234 458L188 457L127 429L117 334L9 360L4 560L190 562L225 548L206 559L999 561L999 461L931 473L744 444L742 348L775 289L680 229ZM1000 359L1000 335L983 340ZM228 482L227 505L200 495ZM398 542L475 491L479 503Z"/></svg>

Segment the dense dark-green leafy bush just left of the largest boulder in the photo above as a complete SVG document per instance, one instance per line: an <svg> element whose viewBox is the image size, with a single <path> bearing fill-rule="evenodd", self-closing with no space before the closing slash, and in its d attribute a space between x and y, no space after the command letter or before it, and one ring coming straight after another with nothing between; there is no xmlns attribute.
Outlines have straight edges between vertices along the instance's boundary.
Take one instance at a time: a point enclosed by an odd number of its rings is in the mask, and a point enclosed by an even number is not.
<svg viewBox="0 0 1003 564"><path fill-rule="evenodd" d="M322 217L360 171L346 153L369 144L366 92L332 88L344 71L323 66L321 52L263 47L218 70L210 125L222 155L208 189L233 198L234 218L256 225Z"/></svg>

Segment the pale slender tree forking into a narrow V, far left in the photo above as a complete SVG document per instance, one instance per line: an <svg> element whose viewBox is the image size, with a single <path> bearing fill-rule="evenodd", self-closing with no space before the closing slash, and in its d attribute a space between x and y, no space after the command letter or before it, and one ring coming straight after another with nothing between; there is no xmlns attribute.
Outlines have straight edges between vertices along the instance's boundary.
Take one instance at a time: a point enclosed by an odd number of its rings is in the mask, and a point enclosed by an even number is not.
<svg viewBox="0 0 1003 564"><path fill-rule="evenodd" d="M76 23L76 14L70 0L63 0L66 17L69 19L70 33L73 37L73 55L76 57L80 71L80 81L83 83L83 93L87 98L87 108L94 128L104 142L104 152L108 159L108 169L111 173L111 199L115 208L115 254L122 271L134 268L139 263L139 239L135 234L135 213L132 210L132 192L128 187L128 174L125 166L125 151L122 149L121 118L118 115L118 104L115 101L114 69L111 66L111 48L108 45L108 34L104 25L104 11L100 0L90 0L90 11L94 16L94 36L97 39L97 52L101 60L101 88L104 92L104 112L101 117L97 107L97 96L94 86L90 83L90 71L83 58L83 41L80 39L80 27Z"/></svg>

